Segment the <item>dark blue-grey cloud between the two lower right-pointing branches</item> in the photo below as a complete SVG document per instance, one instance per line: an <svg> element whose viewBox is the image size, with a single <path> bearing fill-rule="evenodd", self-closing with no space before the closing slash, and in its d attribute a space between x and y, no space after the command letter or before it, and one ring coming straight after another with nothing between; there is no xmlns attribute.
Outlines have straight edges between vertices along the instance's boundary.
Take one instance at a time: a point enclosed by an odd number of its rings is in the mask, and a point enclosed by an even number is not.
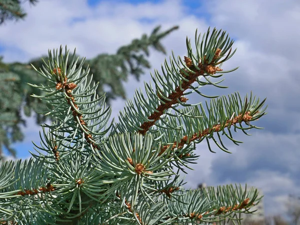
<svg viewBox="0 0 300 225"><path fill-rule="evenodd" d="M253 135L245 137L242 132L235 135L244 143L236 147L232 155L225 154L213 161L216 170L211 175L216 180L223 181L227 174L231 174L232 178L241 182L250 178L253 172L265 169L297 176L300 151L295 149L300 144L299 134L249 133Z"/></svg>

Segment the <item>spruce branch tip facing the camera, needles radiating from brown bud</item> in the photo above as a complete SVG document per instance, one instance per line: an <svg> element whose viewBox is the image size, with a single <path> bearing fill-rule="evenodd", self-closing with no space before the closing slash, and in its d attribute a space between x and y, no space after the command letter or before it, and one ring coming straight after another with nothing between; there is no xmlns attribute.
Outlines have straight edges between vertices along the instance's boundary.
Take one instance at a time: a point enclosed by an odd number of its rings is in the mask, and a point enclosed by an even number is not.
<svg viewBox="0 0 300 225"><path fill-rule="evenodd" d="M109 196L116 190L126 199L133 195L130 203L134 205L140 192L145 201L153 201L147 193L155 188L153 181L169 180L174 174L167 166L172 159L168 157L170 148L158 156L159 151L160 145L150 134L145 135L144 140L138 133L110 136L92 161L95 169L103 175L102 180L111 184L105 195ZM128 189L128 185L135 188Z"/></svg>

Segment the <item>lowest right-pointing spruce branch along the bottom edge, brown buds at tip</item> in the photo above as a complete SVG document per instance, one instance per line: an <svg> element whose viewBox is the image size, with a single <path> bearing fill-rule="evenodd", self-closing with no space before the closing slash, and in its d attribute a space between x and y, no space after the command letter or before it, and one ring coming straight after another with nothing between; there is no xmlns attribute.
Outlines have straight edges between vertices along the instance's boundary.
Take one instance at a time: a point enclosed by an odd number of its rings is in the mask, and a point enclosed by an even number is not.
<svg viewBox="0 0 300 225"><path fill-rule="evenodd" d="M234 188L230 184L217 186L216 191L214 187L187 190L179 199L177 202L168 202L170 214L177 215L177 222L189 221L194 224L195 221L213 222L233 218L241 212L251 213L251 207L258 204L261 197L253 187L247 192L246 186L242 189L240 185Z"/></svg>

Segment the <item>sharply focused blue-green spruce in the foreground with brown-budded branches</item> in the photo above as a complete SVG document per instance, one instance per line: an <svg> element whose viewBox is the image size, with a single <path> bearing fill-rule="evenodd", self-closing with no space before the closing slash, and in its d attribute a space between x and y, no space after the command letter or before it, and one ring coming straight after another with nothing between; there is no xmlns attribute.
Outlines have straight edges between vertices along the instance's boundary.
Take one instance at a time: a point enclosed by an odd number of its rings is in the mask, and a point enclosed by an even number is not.
<svg viewBox="0 0 300 225"><path fill-rule="evenodd" d="M0 163L2 224L210 224L252 213L260 198L257 189L224 185L185 190L179 171L198 160L195 143L234 144L232 131L258 128L251 124L265 114L265 99L238 93L206 96L200 87L222 88L211 78L232 57L233 41L213 29L197 36L195 51L186 39L187 55L170 57L136 90L119 121L109 121L105 96L96 94L89 69L75 51L69 63L65 47L48 51L48 61L34 69L51 85L30 84L43 95L33 97L52 105L45 115L56 118L42 126L38 155L29 160ZM202 79L202 81L200 80ZM196 92L209 103L188 104ZM204 110L206 107L206 110ZM245 124L245 125L244 125Z"/></svg>

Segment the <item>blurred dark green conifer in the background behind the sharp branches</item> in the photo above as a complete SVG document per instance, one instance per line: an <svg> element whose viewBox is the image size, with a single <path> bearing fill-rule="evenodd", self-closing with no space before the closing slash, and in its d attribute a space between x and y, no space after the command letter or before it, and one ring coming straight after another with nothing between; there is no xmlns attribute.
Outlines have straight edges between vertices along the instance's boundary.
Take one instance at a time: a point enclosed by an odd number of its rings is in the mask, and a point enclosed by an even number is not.
<svg viewBox="0 0 300 225"><path fill-rule="evenodd" d="M159 32L159 29L160 26L154 28L149 36L144 34L141 39L134 39L129 45L121 46L115 54L99 54L83 63L83 67L89 65L93 81L99 82L96 89L99 96L104 94L105 86L110 89L105 92L106 103L109 104L109 101L116 97L125 99L125 91L121 82L126 81L129 75L139 80L144 69L150 68L146 58L149 56L149 47L166 54L160 41L170 32L178 29L178 26L164 32ZM47 57L43 58L47 60ZM52 107L40 99L31 98L30 95L40 95L41 92L26 83L49 85L50 82L44 77L36 76L30 66L32 64L36 68L42 67L41 58L33 59L28 64L4 64L1 61L2 57L0 57L0 158L3 157L4 147L15 157L16 152L11 147L11 143L23 140L21 125L26 125L21 111L25 116L30 116L31 111ZM37 124L45 122L46 118L55 119L41 114L34 115Z"/></svg>

